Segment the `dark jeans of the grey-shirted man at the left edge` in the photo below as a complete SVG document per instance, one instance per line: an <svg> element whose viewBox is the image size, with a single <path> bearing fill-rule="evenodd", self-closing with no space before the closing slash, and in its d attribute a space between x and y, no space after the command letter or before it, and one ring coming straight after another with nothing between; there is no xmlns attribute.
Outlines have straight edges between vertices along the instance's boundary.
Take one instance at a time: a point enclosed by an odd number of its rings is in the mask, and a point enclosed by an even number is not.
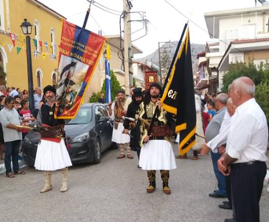
<svg viewBox="0 0 269 222"><path fill-rule="evenodd" d="M17 172L19 170L18 154L21 140L14 140L11 142L5 142L5 167L6 175L12 172L11 169L11 158L13 164L13 171Z"/></svg>

